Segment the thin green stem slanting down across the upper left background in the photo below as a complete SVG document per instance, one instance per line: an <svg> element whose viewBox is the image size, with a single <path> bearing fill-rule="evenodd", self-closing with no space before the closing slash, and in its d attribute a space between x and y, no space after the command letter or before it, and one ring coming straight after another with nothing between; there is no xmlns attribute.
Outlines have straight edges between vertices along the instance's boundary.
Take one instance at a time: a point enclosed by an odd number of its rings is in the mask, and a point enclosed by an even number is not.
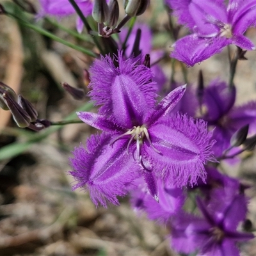
<svg viewBox="0 0 256 256"><path fill-rule="evenodd" d="M48 36L49 38L51 38L52 40L55 40L56 42L60 42L63 45L67 45L68 47L70 47L72 49L75 49L77 51L83 52L84 54L87 54L88 56L92 56L93 58L97 58L97 54L95 54L95 52L92 52L88 49L77 46L77 45L72 44L70 42L67 42L67 41L63 40L62 38L60 38L56 35L53 35L52 33L50 33L49 31L47 31L43 28L39 28L38 26L35 26L33 24L28 23L26 20L20 19L20 17L17 17L13 13L6 13L6 14L9 15L10 17L13 17L14 19L16 19L17 22L19 22L23 26L26 26L27 28L31 28L34 31L40 33L41 35Z"/></svg>

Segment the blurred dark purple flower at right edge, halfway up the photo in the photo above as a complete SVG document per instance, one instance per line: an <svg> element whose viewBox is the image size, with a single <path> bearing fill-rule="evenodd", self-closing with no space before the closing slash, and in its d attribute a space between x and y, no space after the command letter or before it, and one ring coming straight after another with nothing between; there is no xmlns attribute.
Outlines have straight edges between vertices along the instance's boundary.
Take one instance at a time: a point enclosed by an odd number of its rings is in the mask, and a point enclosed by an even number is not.
<svg viewBox="0 0 256 256"><path fill-rule="evenodd" d="M243 106L234 106L236 87L228 87L225 82L212 81L204 89L204 105L206 111L202 118L210 127L214 127L213 147L216 156L230 147L230 138L244 125L250 125L250 132L256 131L256 102L248 102Z"/></svg>

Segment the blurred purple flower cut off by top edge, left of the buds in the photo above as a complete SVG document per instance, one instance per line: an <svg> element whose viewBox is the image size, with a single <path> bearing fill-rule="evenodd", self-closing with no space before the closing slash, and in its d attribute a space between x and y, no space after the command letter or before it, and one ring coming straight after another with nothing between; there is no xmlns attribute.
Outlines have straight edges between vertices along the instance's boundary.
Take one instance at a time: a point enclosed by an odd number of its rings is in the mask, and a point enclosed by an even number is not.
<svg viewBox="0 0 256 256"><path fill-rule="evenodd" d="M44 17L45 15L52 15L56 17L65 17L76 13L72 4L68 0L39 0L42 9L38 13L38 17ZM93 3L91 0L76 0L77 5L83 12L85 17L92 15ZM77 31L79 33L83 30L83 22L80 18L77 18Z"/></svg>

